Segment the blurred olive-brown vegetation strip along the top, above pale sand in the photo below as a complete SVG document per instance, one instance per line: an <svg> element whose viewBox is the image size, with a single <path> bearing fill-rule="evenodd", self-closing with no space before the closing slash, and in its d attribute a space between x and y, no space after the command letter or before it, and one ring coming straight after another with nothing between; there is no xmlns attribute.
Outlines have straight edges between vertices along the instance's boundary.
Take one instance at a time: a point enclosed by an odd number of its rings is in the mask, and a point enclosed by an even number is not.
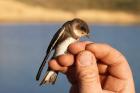
<svg viewBox="0 0 140 93"><path fill-rule="evenodd" d="M34 6L77 11L79 9L119 10L140 13L140 0L17 0Z"/></svg>

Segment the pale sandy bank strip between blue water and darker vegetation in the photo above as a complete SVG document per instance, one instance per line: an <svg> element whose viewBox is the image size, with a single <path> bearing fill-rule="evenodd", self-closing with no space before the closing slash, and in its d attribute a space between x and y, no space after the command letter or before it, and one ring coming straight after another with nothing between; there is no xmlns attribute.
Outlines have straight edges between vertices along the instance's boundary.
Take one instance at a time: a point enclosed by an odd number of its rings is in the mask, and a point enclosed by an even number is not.
<svg viewBox="0 0 140 93"><path fill-rule="evenodd" d="M31 6L14 0L0 0L0 22L62 22L75 17L92 23L140 23L140 15L120 11L80 10L72 13Z"/></svg>

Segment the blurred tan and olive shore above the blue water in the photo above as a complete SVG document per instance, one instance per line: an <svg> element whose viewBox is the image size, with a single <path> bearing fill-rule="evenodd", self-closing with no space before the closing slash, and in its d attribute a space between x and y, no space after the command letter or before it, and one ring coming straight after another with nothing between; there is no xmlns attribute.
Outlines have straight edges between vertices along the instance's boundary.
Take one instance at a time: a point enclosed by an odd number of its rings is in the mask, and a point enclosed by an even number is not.
<svg viewBox="0 0 140 93"><path fill-rule="evenodd" d="M140 0L0 0L1 22L140 23Z"/></svg>

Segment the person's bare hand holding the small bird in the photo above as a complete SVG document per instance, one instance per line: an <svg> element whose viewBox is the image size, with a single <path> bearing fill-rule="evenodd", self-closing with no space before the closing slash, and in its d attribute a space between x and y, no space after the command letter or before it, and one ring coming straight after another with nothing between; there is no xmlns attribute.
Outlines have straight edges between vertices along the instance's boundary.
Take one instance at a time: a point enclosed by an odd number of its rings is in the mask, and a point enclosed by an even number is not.
<svg viewBox="0 0 140 93"><path fill-rule="evenodd" d="M125 57L107 44L76 42L69 54L49 62L72 84L70 93L135 93L131 69Z"/></svg>

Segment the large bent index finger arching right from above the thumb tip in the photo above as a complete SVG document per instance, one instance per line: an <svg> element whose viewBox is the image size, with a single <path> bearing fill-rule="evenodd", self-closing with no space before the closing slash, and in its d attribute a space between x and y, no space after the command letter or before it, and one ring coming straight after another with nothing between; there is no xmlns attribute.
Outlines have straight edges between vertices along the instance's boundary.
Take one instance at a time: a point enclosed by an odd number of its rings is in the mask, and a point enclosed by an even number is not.
<svg viewBox="0 0 140 93"><path fill-rule="evenodd" d="M109 73L120 79L127 79L131 76L129 65L124 56L106 44L89 44L86 50L91 51L104 64L109 65Z"/></svg>

